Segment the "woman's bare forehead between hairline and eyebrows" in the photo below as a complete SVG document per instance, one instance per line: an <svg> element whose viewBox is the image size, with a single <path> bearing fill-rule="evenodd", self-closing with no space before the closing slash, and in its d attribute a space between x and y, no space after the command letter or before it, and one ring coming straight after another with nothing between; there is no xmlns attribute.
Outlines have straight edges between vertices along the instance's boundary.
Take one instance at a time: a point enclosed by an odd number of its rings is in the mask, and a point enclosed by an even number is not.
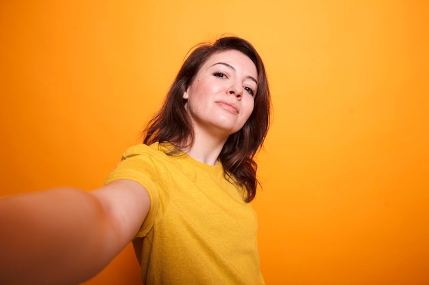
<svg viewBox="0 0 429 285"><path fill-rule="evenodd" d="M253 75L255 77L258 75L256 66L254 62L252 62L252 59L241 51L230 49L213 53L208 57L207 61L203 66L201 66L201 68L210 68L210 66L218 63L229 64L236 70L241 70L242 72L249 73L249 75Z"/></svg>

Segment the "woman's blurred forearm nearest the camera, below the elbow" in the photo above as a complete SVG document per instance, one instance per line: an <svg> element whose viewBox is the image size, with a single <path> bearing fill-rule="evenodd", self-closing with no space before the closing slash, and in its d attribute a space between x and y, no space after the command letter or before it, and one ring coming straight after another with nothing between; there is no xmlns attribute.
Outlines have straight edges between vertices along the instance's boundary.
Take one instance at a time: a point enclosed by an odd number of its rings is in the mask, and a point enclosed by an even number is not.
<svg viewBox="0 0 429 285"><path fill-rule="evenodd" d="M90 193L55 189L0 199L0 284L78 284L119 252Z"/></svg>

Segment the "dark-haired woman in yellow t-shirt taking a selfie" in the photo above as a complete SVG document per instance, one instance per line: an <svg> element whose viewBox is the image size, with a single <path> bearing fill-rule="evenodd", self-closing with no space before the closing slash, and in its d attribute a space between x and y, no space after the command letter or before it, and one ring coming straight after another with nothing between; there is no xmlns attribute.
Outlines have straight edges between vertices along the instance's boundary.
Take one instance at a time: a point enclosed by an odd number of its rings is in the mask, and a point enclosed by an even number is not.
<svg viewBox="0 0 429 285"><path fill-rule="evenodd" d="M0 284L77 284L130 241L145 285L264 284L249 202L269 109L249 42L200 44L103 187L0 201Z"/></svg>

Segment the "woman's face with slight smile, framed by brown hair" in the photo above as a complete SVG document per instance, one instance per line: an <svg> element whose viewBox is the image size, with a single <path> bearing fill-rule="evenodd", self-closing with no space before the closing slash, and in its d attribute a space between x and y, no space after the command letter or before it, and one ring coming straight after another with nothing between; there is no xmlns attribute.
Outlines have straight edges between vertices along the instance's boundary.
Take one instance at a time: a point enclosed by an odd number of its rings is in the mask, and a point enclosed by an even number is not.
<svg viewBox="0 0 429 285"><path fill-rule="evenodd" d="M254 109L257 79L256 66L240 51L210 56L183 94L195 133L224 139L239 131Z"/></svg>

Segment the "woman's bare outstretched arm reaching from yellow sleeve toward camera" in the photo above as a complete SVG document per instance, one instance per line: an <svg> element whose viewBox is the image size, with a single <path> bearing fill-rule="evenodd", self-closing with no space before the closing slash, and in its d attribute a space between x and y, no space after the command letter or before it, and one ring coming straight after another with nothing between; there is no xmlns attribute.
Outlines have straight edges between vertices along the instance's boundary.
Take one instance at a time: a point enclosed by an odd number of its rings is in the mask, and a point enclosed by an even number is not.
<svg viewBox="0 0 429 285"><path fill-rule="evenodd" d="M0 284L88 280L130 243L149 208L147 191L131 180L0 199Z"/></svg>

